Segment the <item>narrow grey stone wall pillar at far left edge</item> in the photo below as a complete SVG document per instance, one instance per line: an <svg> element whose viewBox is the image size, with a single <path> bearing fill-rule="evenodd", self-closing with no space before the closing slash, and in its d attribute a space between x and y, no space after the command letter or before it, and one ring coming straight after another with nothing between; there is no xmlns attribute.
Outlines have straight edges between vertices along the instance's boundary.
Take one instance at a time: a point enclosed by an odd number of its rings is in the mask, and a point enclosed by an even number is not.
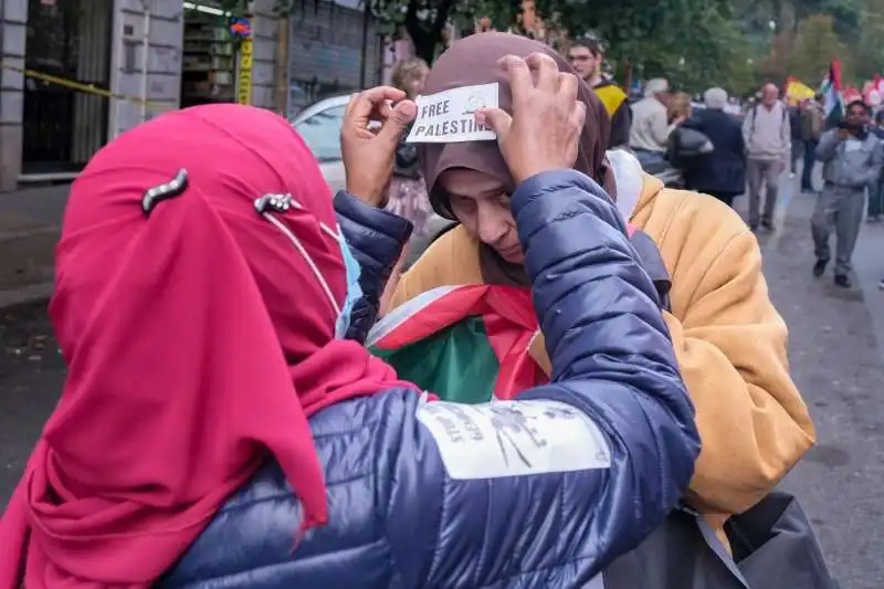
<svg viewBox="0 0 884 589"><path fill-rule="evenodd" d="M24 67L28 0L0 0L0 60ZM13 190L21 172L24 77L0 70L0 192Z"/></svg>

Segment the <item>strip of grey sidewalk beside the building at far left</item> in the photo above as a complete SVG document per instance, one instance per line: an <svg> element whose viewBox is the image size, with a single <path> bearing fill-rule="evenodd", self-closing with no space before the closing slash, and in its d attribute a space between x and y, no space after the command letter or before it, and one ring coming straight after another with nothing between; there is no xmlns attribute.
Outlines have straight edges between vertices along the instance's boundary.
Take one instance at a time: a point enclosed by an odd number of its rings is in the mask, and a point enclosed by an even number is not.
<svg viewBox="0 0 884 589"><path fill-rule="evenodd" d="M0 308L48 297L70 185L0 193Z"/></svg>

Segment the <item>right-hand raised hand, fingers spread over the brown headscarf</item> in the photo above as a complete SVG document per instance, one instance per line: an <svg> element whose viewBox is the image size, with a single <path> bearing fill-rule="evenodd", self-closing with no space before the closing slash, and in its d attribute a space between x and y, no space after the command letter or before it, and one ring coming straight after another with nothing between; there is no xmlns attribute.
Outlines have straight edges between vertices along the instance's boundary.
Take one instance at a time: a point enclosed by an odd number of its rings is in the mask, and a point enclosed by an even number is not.
<svg viewBox="0 0 884 589"><path fill-rule="evenodd" d="M497 133L501 152L519 183L541 171L570 168L586 122L586 105L577 99L577 77L560 73L543 53L501 60L513 92L513 114L483 108L476 120Z"/></svg>

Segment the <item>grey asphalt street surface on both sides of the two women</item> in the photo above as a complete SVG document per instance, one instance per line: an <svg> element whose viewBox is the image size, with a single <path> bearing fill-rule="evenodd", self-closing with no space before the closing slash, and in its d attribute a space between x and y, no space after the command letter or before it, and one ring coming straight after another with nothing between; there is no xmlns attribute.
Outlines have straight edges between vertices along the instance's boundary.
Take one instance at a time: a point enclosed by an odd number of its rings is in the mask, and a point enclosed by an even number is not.
<svg viewBox="0 0 884 589"><path fill-rule="evenodd" d="M831 273L814 278L809 231L814 197L797 193L793 183L786 181L776 230L760 234L759 243L771 297L790 328L791 371L813 414L819 444L783 484L801 499L842 589L880 589L884 291L877 282L884 277L884 225L863 228L854 288L838 288ZM746 198L737 199L737 210L745 207ZM0 505L20 476L62 382L63 366L43 304L0 311Z"/></svg>

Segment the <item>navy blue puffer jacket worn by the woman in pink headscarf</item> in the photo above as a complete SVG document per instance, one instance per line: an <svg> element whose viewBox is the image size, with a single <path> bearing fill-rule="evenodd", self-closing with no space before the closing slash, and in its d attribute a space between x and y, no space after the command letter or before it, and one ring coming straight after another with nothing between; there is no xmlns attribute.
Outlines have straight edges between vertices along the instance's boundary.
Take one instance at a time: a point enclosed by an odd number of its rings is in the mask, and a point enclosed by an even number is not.
<svg viewBox="0 0 884 589"><path fill-rule="evenodd" d="M396 233L371 227L389 213L348 203L350 244L392 265L399 248L385 261L359 239ZM160 587L582 588L663 519L699 442L654 285L587 177L538 175L512 206L552 382L486 406L388 390L322 411L329 523L295 546L298 502L270 463Z"/></svg>

